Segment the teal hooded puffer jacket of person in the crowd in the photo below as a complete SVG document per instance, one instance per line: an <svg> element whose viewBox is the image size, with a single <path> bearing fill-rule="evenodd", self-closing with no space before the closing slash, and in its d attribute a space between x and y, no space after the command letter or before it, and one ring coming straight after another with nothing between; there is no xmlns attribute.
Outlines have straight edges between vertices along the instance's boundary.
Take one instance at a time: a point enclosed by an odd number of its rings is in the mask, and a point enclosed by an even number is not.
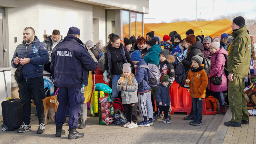
<svg viewBox="0 0 256 144"><path fill-rule="evenodd" d="M151 48L149 48L148 53L144 56L144 60L148 64L159 64L159 53L161 51L161 48L158 46L158 44L153 45Z"/></svg>

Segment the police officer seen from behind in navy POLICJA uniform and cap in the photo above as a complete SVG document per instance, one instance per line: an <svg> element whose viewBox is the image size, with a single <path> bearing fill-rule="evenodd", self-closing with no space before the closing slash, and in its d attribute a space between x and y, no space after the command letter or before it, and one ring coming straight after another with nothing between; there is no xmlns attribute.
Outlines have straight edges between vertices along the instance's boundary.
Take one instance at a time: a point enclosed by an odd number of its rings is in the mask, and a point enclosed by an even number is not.
<svg viewBox="0 0 256 144"><path fill-rule="evenodd" d="M81 86L87 86L88 71L94 71L97 63L94 62L88 49L79 39L80 30L70 27L68 35L58 44L51 54L51 71L54 85L59 87L57 100L59 106L55 115L56 137L65 135L62 125L66 121L68 103L69 109L69 135L68 139L83 138L84 133L77 131L81 104L84 102Z"/></svg>

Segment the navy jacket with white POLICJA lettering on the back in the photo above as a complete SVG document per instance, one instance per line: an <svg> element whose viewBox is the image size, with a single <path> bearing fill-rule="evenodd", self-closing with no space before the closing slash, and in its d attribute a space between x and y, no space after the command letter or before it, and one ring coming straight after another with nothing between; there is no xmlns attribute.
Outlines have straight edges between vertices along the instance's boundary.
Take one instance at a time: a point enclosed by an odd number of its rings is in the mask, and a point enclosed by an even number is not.
<svg viewBox="0 0 256 144"><path fill-rule="evenodd" d="M88 84L88 71L94 71L94 62L83 42L67 35L62 43L56 45L51 54L52 77L54 85L66 88L80 88Z"/></svg>

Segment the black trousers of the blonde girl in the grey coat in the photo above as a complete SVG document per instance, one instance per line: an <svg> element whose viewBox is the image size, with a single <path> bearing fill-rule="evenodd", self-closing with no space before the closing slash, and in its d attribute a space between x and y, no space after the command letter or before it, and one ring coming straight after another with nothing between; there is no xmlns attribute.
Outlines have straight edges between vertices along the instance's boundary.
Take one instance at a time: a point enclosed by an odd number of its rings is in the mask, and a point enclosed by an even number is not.
<svg viewBox="0 0 256 144"><path fill-rule="evenodd" d="M137 111L136 111L136 103L132 103L132 104L123 104L124 106L124 114L125 117L127 119L127 121L134 122L136 124L136 122L138 121L137 118Z"/></svg>

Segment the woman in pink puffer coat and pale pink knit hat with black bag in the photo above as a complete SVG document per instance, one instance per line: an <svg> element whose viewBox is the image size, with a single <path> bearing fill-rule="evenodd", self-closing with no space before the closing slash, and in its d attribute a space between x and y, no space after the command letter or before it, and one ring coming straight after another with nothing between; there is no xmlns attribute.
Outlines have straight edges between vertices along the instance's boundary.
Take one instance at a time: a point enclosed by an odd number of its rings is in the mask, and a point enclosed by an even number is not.
<svg viewBox="0 0 256 144"><path fill-rule="evenodd" d="M228 52L224 48L220 48L219 42L212 42L210 44L210 52L212 54L212 57L211 57L211 71L209 76L220 77L222 75L222 82L221 82L221 85L214 85L212 84L210 79L209 89L213 91L213 95L219 100L219 103L220 103L220 109L216 113L225 114L226 113L225 97L224 97L223 91L227 90L228 85L227 85L226 74L225 72L223 72L224 70L223 66L225 66L225 62L226 62L224 55L228 55ZM216 59L216 56L217 56L217 59Z"/></svg>

